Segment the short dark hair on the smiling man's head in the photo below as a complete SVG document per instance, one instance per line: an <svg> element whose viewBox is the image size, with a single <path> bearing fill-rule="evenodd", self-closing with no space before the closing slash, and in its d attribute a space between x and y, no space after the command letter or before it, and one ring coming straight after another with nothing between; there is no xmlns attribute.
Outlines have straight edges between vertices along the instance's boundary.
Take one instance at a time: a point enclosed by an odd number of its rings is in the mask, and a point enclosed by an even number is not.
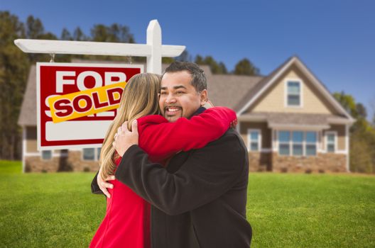
<svg viewBox="0 0 375 248"><path fill-rule="evenodd" d="M200 67L192 62L180 62L175 61L172 64L170 64L167 69L165 69L165 72L182 72L187 71L192 76L191 84L194 86L195 90L199 93L204 89L207 89L207 79L205 72L200 69Z"/></svg>

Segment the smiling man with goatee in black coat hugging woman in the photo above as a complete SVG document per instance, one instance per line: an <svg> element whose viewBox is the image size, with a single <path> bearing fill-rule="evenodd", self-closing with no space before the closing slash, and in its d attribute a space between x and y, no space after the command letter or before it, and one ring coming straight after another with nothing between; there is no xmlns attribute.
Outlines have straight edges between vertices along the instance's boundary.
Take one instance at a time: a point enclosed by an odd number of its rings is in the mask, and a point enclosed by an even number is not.
<svg viewBox="0 0 375 248"><path fill-rule="evenodd" d="M201 113L207 102L205 74L196 64L173 62L165 69L159 100L170 122ZM154 248L249 247L246 221L248 157L238 133L229 129L200 150L180 152L165 168L148 161L133 132L119 130L114 147L124 154L116 179L152 205ZM95 181L94 181L95 183ZM107 194L110 184L98 177Z"/></svg>

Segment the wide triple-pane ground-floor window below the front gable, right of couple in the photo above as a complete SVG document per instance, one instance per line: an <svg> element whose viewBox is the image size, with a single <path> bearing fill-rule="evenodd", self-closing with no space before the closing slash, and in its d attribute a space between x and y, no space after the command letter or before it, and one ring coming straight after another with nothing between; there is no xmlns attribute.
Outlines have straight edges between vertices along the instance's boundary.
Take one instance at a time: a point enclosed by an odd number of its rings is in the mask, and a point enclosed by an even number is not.
<svg viewBox="0 0 375 248"><path fill-rule="evenodd" d="M278 154L287 156L316 156L317 133L278 131Z"/></svg>

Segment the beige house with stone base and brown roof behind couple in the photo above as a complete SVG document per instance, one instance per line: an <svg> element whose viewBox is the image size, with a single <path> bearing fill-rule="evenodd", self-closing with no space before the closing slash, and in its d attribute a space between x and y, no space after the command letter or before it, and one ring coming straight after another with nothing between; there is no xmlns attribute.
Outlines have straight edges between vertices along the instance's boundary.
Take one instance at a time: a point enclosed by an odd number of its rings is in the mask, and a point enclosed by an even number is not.
<svg viewBox="0 0 375 248"><path fill-rule="evenodd" d="M266 77L202 69L209 99L237 112L250 171L349 171L349 126L354 119L298 57L290 57ZM35 96L36 68L31 67L18 120L24 171L96 171L99 148L36 150Z"/></svg>

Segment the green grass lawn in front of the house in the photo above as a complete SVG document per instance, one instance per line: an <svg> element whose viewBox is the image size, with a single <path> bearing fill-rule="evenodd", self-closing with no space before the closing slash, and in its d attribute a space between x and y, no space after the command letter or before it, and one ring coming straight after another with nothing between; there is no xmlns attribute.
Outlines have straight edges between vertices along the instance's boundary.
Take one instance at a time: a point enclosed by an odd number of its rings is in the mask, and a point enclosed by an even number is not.
<svg viewBox="0 0 375 248"><path fill-rule="evenodd" d="M87 247L104 217L92 173L21 174L0 162L0 247ZM252 247L375 247L375 176L249 176Z"/></svg>

